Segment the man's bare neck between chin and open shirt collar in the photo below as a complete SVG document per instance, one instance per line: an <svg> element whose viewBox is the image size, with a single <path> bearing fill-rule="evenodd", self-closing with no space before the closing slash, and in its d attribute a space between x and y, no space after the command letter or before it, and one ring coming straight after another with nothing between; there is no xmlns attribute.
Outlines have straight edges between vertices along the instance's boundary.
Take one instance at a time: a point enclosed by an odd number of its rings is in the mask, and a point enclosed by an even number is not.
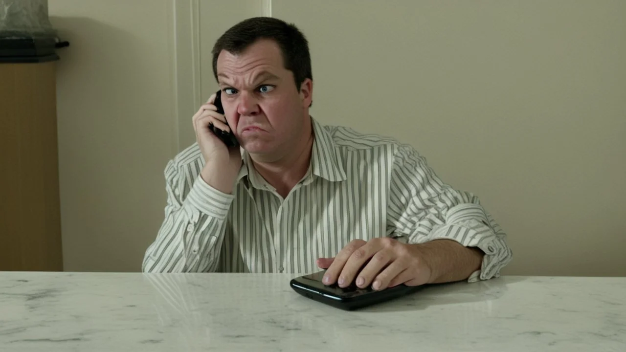
<svg viewBox="0 0 626 352"><path fill-rule="evenodd" d="M285 157L275 162L257 162L252 159L255 170L276 189L276 192L285 199L290 190L302 180L309 170L314 133L310 127L309 138L300 139L301 143L287 153Z"/></svg>

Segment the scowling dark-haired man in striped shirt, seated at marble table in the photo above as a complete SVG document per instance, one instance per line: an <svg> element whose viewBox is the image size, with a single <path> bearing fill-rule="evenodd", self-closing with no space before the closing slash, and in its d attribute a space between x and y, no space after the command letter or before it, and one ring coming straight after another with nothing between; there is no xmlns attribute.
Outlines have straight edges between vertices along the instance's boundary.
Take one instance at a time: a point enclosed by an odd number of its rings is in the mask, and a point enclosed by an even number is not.
<svg viewBox="0 0 626 352"><path fill-rule="evenodd" d="M478 199L443 184L412 147L309 115L309 48L295 26L236 24L215 43L213 73L225 115L212 95L193 116L197 143L168 163L165 220L143 271L321 268L327 284L384 289L490 279L511 260Z"/></svg>

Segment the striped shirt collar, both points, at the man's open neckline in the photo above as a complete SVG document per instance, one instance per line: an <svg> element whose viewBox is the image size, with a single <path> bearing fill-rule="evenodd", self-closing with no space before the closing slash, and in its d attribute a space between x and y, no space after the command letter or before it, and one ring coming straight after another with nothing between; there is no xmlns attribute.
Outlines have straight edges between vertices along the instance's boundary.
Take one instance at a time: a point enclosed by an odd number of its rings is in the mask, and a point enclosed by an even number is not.
<svg viewBox="0 0 626 352"><path fill-rule="evenodd" d="M334 140L332 140L332 136L326 131L326 128L324 128L312 117L311 124L313 127L314 139L311 150L309 171L307 171L305 179L310 177L312 171L313 175L322 177L322 179L329 181L346 180L346 170L344 170L341 162L341 155L337 152L337 145ZM242 163L242 167L239 169L237 182L240 182L242 179L247 177L252 186L255 188L273 188L265 182L263 177L261 177L256 170L254 170L252 160L250 160L250 155L244 150L244 148L241 148L241 156L244 162Z"/></svg>

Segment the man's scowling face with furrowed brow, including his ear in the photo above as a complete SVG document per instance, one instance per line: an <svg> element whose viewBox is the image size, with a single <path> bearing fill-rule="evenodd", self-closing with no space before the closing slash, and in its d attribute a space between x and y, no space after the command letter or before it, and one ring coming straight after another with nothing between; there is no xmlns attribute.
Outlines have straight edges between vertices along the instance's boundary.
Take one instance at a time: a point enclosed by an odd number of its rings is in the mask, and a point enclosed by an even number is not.
<svg viewBox="0 0 626 352"><path fill-rule="evenodd" d="M217 76L228 125L249 153L278 160L308 137L312 82L297 90L274 41L259 40L239 55L222 50Z"/></svg>

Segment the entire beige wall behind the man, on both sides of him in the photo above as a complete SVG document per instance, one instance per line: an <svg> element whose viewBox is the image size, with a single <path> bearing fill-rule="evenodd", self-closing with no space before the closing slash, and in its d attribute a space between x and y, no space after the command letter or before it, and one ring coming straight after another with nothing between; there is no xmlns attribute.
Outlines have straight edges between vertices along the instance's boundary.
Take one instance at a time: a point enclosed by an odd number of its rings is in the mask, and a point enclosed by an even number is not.
<svg viewBox="0 0 626 352"><path fill-rule="evenodd" d="M196 100L217 88L213 41L267 3L310 40L312 115L409 142L479 195L509 234L505 274L626 275L626 2L201 0ZM66 270L138 271L161 224L163 167L193 142L197 110L181 103L191 71L173 75L190 54L172 9L49 0L71 42L58 73Z"/></svg>

